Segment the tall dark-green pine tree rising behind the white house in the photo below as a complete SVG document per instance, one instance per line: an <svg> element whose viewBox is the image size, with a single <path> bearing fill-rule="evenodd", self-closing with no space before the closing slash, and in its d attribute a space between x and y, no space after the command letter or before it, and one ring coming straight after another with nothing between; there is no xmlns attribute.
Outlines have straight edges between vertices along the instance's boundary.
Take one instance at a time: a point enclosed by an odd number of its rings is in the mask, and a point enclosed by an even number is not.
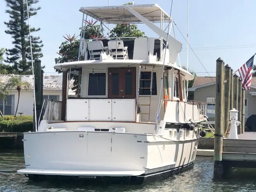
<svg viewBox="0 0 256 192"><path fill-rule="evenodd" d="M28 14L26 0L5 0L9 9L5 10L10 15L10 20L4 22L7 25L5 33L12 35L14 48L7 49L5 62L13 65L16 73L31 74L31 48L29 40ZM32 7L38 0L28 0L29 16L37 14L41 7ZM31 27L31 33L39 31L40 28ZM31 35L33 59L42 57L42 40L40 37Z"/></svg>

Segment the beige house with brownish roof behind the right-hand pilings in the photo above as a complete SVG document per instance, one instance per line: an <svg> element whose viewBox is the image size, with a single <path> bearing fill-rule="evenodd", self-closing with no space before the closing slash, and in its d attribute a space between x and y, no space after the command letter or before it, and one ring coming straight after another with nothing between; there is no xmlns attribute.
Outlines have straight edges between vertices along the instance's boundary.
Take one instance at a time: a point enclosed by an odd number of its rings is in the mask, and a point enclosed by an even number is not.
<svg viewBox="0 0 256 192"><path fill-rule="evenodd" d="M209 119L214 119L215 116L215 81L216 77L195 77L193 86L188 89L194 92L195 101L207 103ZM252 77L251 89L245 90L245 119L256 114L254 103L256 103L256 77Z"/></svg>

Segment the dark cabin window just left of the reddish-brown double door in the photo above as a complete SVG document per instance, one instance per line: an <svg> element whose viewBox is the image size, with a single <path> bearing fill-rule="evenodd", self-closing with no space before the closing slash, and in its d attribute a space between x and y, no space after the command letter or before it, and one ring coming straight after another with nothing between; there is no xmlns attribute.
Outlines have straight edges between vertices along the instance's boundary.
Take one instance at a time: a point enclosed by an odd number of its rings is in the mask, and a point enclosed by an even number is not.
<svg viewBox="0 0 256 192"><path fill-rule="evenodd" d="M106 95L106 73L89 73L88 95Z"/></svg>

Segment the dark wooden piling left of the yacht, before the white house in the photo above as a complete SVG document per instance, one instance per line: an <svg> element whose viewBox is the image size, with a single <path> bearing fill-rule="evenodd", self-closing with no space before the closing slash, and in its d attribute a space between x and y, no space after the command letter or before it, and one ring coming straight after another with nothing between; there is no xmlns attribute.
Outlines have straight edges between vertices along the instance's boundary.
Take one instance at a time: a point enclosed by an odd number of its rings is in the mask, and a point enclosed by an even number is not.
<svg viewBox="0 0 256 192"><path fill-rule="evenodd" d="M42 81L41 81L41 61L40 59L36 59L34 63L34 74L35 74L35 106L34 109L36 110L36 119L34 119L34 126L33 131L35 131L37 128L35 127L35 121L37 122L37 125L39 126L39 117L41 112L41 95L42 95ZM34 115L35 116L35 115Z"/></svg>

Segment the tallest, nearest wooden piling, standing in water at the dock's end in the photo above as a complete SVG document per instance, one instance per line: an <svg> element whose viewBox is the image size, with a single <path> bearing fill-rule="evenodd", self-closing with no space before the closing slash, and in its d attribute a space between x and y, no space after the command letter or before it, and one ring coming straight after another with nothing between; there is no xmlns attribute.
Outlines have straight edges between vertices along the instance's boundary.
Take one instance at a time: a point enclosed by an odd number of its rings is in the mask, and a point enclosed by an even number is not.
<svg viewBox="0 0 256 192"><path fill-rule="evenodd" d="M221 58L216 61L216 98L215 98L215 129L214 129L214 178L223 177L222 146L223 146L223 99L224 99L224 63Z"/></svg>

